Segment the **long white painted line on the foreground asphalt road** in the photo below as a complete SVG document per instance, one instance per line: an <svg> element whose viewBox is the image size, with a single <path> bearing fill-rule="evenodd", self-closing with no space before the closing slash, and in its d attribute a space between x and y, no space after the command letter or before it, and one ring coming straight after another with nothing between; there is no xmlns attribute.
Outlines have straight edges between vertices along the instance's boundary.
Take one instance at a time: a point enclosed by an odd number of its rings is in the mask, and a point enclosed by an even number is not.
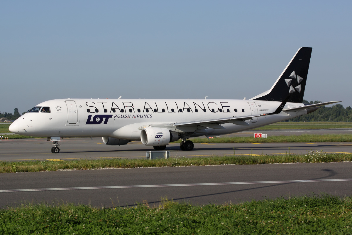
<svg viewBox="0 0 352 235"><path fill-rule="evenodd" d="M71 188L30 188L0 190L0 193L8 192L34 192L34 191L58 191L58 190L87 190L87 189L111 189L111 188L150 188L150 187L180 187L180 186L209 186L209 185L237 185L237 184L285 184L285 183L310 183L352 181L352 179L324 179L324 180L281 180L281 181L253 181L253 182L228 182L228 183L202 183L202 184L157 184L157 185L126 185L126 186L100 186L100 187L71 187Z"/></svg>

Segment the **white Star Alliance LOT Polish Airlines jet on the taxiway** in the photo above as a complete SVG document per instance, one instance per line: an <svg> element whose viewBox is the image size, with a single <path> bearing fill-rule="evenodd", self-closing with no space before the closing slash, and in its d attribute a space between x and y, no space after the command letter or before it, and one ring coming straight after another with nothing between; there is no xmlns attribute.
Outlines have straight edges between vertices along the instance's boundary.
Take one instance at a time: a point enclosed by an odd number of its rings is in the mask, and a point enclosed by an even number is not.
<svg viewBox="0 0 352 235"><path fill-rule="evenodd" d="M281 122L341 101L303 104L311 47L298 49L275 84L249 100L235 99L54 99L40 103L15 120L9 130L46 137L59 153L63 137L102 137L107 145L142 141L164 150L191 137L225 135Z"/></svg>

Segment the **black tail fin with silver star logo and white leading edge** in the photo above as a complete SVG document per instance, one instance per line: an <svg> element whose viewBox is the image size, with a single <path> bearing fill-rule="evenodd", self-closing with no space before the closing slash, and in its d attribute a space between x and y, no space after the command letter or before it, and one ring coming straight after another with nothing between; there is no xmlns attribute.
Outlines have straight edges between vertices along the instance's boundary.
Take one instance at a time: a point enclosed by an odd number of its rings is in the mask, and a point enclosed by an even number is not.
<svg viewBox="0 0 352 235"><path fill-rule="evenodd" d="M271 89L251 100L283 101L289 96L288 102L303 103L311 54L311 47L298 49Z"/></svg>

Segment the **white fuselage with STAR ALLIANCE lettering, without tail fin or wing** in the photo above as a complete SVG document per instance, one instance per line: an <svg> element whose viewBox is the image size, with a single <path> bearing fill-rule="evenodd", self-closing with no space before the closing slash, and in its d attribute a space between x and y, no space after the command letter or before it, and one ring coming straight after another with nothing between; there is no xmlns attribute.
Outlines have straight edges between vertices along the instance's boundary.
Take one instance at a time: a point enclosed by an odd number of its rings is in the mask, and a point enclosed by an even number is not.
<svg viewBox="0 0 352 235"><path fill-rule="evenodd" d="M280 104L259 100L56 99L37 105L40 110L49 107L50 112L27 112L9 129L26 136L114 137L133 141L140 140L142 126L265 114L274 112ZM285 108L297 106L303 104L287 103ZM246 126L225 123L221 124L225 129L204 128L191 137L249 130L306 113L303 110L261 116L246 120Z"/></svg>

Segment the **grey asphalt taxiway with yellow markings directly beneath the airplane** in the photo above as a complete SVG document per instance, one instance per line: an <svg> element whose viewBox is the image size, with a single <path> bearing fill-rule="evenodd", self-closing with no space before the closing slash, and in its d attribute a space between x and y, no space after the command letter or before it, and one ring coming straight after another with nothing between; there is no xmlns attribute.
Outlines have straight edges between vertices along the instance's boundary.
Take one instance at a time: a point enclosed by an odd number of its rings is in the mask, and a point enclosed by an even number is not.
<svg viewBox="0 0 352 235"><path fill-rule="evenodd" d="M142 158L153 147L144 146L140 141L121 146L103 144L101 138L65 138L61 142L60 153L51 153L51 142L46 139L10 139L0 141L0 161L32 159L100 159ZM305 154L310 150L326 153L352 153L352 142L333 143L203 143L194 144L192 151L180 150L179 144L169 144L171 157L195 157L213 155L260 155L260 154Z"/></svg>

